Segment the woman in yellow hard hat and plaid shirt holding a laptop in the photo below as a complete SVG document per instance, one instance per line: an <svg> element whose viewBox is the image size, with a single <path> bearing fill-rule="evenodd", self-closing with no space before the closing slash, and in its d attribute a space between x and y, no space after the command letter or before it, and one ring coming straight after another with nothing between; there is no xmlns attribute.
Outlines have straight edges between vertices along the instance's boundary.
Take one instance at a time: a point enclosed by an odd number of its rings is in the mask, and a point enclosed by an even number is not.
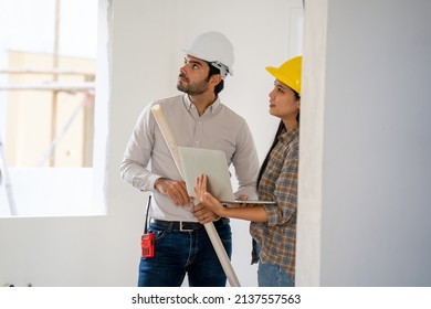
<svg viewBox="0 0 431 309"><path fill-rule="evenodd" d="M206 175L198 178L195 188L201 205L220 217L251 221L252 263L259 262L257 283L261 287L295 286L301 67L301 56L280 67L266 67L275 77L270 93L270 114L281 121L259 173L257 193L260 200L272 200L275 204L231 204L224 207L207 192ZM195 214L201 223L206 222L201 207L198 206Z"/></svg>

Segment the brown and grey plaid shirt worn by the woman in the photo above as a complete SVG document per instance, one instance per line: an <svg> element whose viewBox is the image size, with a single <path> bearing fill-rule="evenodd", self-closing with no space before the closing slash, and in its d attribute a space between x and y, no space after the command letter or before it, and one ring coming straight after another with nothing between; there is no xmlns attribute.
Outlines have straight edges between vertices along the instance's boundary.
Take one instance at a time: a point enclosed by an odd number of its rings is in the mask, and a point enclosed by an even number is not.
<svg viewBox="0 0 431 309"><path fill-rule="evenodd" d="M275 201L265 205L267 222L252 222L250 234L261 247L261 262L278 265L295 280L299 129L278 137L259 183L259 198ZM253 251L252 264L259 257Z"/></svg>

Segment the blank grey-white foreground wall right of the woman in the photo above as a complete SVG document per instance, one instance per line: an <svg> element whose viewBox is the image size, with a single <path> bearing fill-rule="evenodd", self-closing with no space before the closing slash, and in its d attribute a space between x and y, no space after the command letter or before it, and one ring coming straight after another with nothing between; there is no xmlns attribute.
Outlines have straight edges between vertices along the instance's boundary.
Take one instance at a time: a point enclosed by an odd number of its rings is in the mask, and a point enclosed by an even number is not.
<svg viewBox="0 0 431 309"><path fill-rule="evenodd" d="M306 1L299 286L431 285L430 12Z"/></svg>

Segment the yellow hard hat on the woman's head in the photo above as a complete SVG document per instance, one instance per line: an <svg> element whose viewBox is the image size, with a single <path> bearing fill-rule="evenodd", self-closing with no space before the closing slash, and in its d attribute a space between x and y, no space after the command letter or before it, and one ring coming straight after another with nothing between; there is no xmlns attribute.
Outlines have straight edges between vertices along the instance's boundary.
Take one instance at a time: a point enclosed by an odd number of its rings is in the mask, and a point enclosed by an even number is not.
<svg viewBox="0 0 431 309"><path fill-rule="evenodd" d="M286 84L288 87L297 92L301 96L302 64L303 57L296 56L286 61L280 67L266 66L266 71L270 72L270 74L277 78L280 82Z"/></svg>

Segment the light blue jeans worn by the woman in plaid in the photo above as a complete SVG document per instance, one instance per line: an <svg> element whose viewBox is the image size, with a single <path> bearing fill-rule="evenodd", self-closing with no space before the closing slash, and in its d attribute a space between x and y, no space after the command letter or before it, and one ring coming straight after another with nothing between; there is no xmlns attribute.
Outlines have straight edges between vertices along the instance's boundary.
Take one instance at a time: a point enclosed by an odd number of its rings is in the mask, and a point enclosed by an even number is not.
<svg viewBox="0 0 431 309"><path fill-rule="evenodd" d="M253 242L253 247L256 254L261 255L261 247ZM275 264L263 264L259 262L257 265L257 285L260 287L294 287L287 273Z"/></svg>

